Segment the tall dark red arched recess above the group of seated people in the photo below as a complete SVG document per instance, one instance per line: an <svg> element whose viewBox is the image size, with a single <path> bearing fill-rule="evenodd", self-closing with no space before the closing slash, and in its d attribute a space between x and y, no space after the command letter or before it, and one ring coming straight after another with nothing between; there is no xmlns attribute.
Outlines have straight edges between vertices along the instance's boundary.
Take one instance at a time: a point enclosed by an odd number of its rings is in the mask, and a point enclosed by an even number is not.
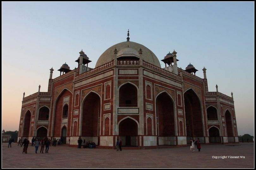
<svg viewBox="0 0 256 170"><path fill-rule="evenodd" d="M91 92L82 105L82 137L99 145L101 99Z"/></svg>

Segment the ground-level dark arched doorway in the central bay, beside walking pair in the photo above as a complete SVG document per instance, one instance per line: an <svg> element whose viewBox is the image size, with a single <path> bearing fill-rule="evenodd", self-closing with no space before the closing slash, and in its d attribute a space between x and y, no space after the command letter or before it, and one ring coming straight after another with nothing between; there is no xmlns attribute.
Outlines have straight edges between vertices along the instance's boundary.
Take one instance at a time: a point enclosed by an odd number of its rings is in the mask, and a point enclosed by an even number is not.
<svg viewBox="0 0 256 170"><path fill-rule="evenodd" d="M126 118L119 123L119 138L124 146L138 145L138 125L131 118Z"/></svg>

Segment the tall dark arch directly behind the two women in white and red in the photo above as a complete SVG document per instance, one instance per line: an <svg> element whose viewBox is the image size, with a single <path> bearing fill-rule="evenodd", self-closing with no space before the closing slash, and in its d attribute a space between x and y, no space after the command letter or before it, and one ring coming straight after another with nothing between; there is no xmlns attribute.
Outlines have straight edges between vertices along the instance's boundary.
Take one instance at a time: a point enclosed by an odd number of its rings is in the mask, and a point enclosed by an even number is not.
<svg viewBox="0 0 256 170"><path fill-rule="evenodd" d="M196 93L189 89L184 93L187 142L189 139L204 137L200 100ZM202 141L201 141L202 142ZM203 143L203 142L202 142Z"/></svg>

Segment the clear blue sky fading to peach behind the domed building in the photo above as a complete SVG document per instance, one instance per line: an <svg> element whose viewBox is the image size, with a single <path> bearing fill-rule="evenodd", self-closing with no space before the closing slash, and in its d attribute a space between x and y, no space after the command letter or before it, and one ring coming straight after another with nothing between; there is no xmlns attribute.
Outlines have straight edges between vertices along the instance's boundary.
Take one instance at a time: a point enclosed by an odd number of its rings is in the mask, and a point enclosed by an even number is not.
<svg viewBox="0 0 256 170"><path fill-rule="evenodd" d="M209 91L234 93L238 134L254 136L254 2L2 2L2 129L18 130L23 92L47 91L50 68L74 69L81 49L94 68L127 29L159 60L175 49L178 67L205 67Z"/></svg>

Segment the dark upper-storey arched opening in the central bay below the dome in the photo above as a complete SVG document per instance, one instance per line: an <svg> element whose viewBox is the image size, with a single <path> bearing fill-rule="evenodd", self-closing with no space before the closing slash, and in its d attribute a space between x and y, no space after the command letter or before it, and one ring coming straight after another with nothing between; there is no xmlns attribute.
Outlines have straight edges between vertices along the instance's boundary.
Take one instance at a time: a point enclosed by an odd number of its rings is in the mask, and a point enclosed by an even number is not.
<svg viewBox="0 0 256 170"><path fill-rule="evenodd" d="M119 107L137 107L138 89L131 82L119 86Z"/></svg>

